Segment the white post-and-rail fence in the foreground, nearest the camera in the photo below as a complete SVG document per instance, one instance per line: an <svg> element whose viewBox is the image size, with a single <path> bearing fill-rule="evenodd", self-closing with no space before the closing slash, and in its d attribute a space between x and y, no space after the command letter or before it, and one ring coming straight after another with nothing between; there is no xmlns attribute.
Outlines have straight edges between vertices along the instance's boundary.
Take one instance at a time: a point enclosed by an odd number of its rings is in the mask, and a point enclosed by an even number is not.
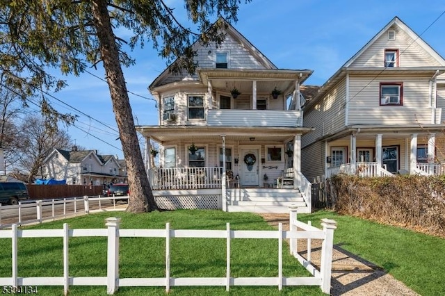
<svg viewBox="0 0 445 296"><path fill-rule="evenodd" d="M291 208L290 220L293 223L291 230L284 231L279 224L277 231L240 231L230 229L229 223L225 230L193 230L170 229L170 224L165 229L120 229L120 218L110 217L106 219L107 229L69 229L68 224L63 224L63 229L21 230L17 224L11 229L0 230L1 238L12 240L12 276L0 277L2 286L63 286L67 295L70 286L106 286L107 293L112 295L121 286L162 286L166 292L172 286L277 286L279 290L283 286L320 286L323 293L330 293L330 276L332 266L333 232L336 229L333 220L322 220L323 229L307 226L296 221L296 208ZM301 229L296 230L295 227ZM306 230L307 229L307 230ZM108 238L107 247L107 274L106 277L70 277L69 241L72 237L101 236ZM18 238L63 238L63 275L60 277L19 277L18 275ZM165 238L165 277L156 278L120 278L119 277L119 248L120 238ZM226 277L181 277L170 276L170 239L171 238L225 238L227 240L227 266ZM232 239L274 239L278 240L278 268L277 277L232 277L230 272L230 253ZM284 277L282 272L282 248L283 240L289 239L290 252L311 272L313 277ZM321 239L322 261L321 270L300 258L296 253L297 239Z"/></svg>

